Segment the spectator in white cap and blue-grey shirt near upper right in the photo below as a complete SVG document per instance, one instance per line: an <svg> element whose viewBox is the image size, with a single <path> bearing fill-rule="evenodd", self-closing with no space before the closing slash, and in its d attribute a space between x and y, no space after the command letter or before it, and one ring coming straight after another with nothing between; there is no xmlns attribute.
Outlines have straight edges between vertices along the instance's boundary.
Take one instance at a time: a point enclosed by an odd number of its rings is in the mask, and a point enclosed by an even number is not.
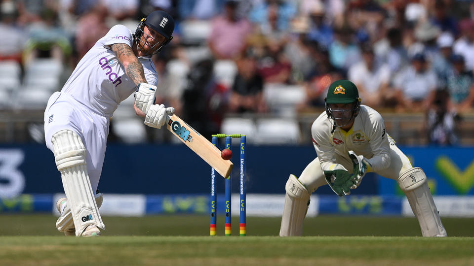
<svg viewBox="0 0 474 266"><path fill-rule="evenodd" d="M454 38L449 32L439 35L436 40L438 52L434 54L431 66L438 76L438 86L446 86L448 74L452 71L451 56Z"/></svg>

